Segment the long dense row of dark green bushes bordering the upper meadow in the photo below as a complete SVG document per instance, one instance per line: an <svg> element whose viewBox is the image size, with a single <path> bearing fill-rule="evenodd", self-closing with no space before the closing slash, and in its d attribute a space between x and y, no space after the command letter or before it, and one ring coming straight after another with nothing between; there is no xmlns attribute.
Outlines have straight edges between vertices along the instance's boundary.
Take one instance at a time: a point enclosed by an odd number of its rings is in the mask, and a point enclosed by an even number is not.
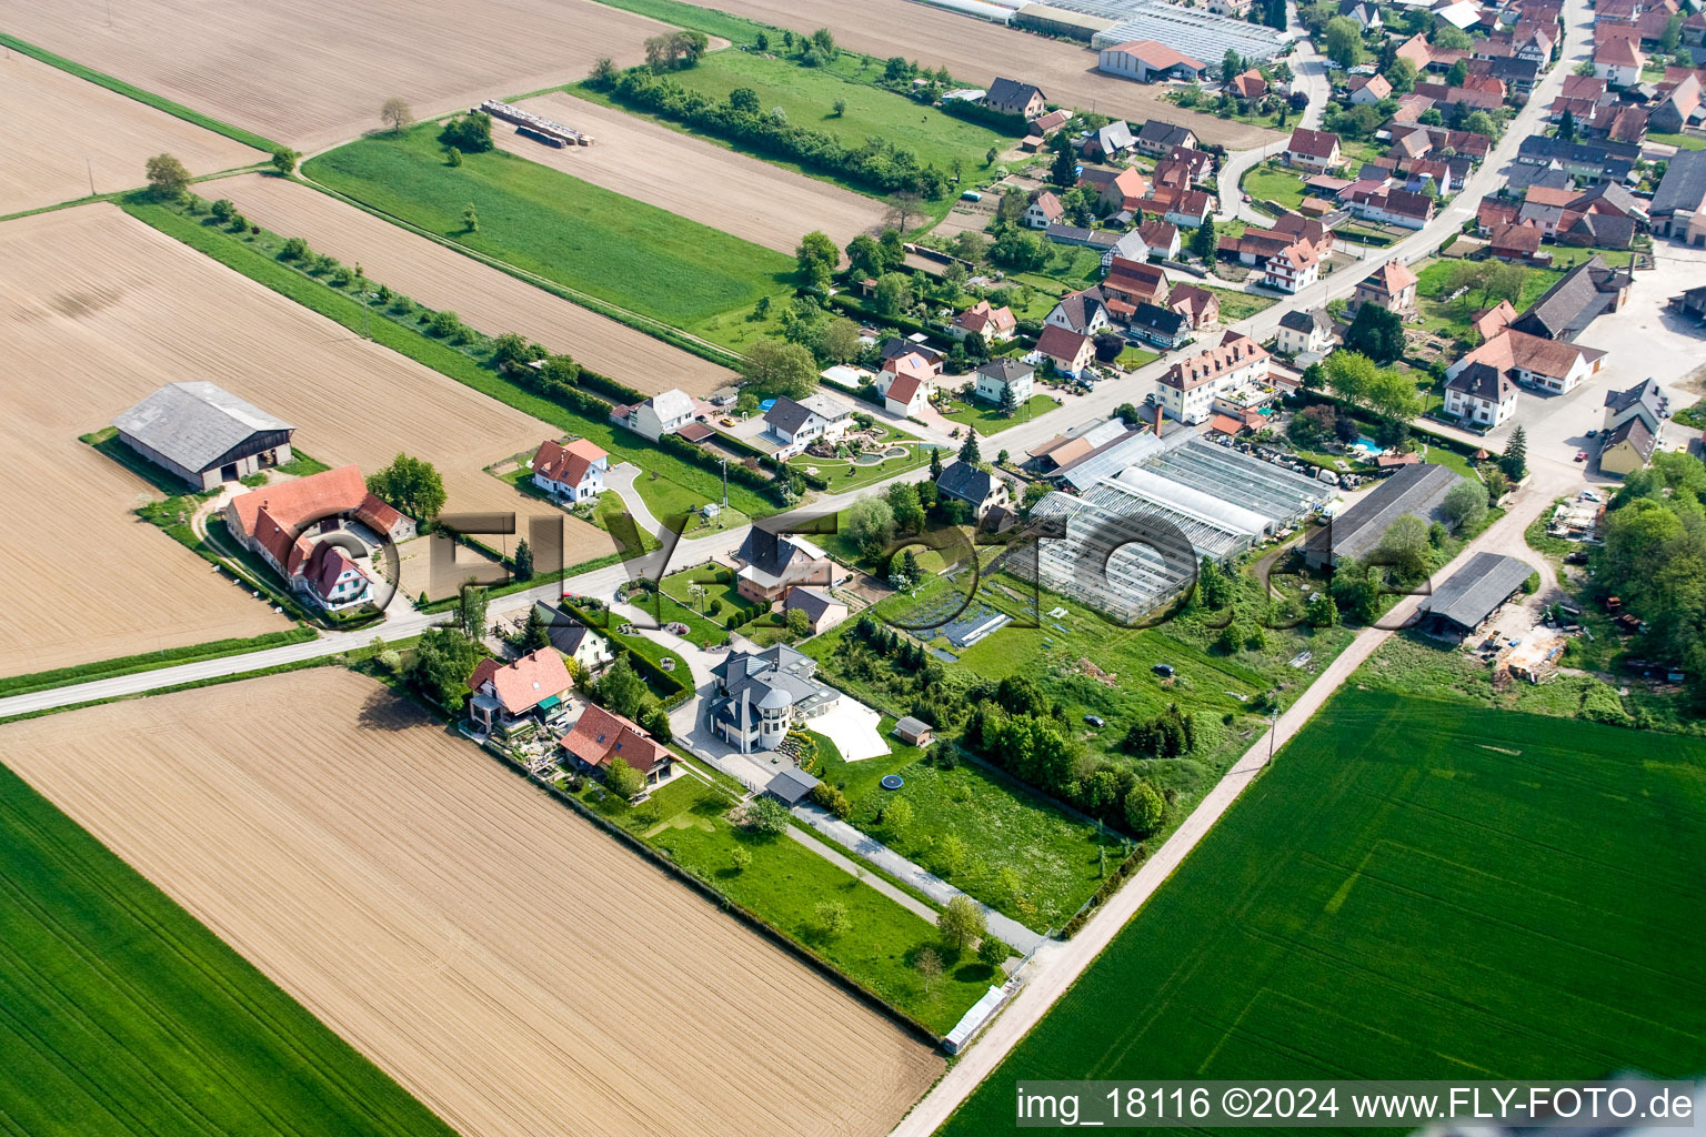
<svg viewBox="0 0 1706 1137"><path fill-rule="evenodd" d="M715 102L698 90L686 90L674 80L640 68L618 75L611 82L609 92L611 97L626 106L879 193L914 191L930 199L938 199L947 193L947 177L940 170L935 167L921 169L918 155L880 138L868 138L860 147L848 147L826 131L790 126L773 114L752 111L744 104L737 107L734 102Z"/></svg>

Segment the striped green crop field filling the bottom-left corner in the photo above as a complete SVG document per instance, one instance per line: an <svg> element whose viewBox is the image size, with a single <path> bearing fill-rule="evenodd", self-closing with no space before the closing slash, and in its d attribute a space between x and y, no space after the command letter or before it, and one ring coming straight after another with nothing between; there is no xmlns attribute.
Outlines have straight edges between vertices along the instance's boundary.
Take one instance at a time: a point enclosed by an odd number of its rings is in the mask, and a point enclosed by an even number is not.
<svg viewBox="0 0 1706 1137"><path fill-rule="evenodd" d="M0 1128L452 1130L0 769Z"/></svg>

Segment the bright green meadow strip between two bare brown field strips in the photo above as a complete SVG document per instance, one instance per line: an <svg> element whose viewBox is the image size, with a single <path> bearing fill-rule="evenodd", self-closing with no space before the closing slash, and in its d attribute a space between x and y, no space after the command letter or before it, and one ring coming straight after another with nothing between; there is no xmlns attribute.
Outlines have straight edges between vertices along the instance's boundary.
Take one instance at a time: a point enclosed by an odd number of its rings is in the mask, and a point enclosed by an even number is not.
<svg viewBox="0 0 1706 1137"><path fill-rule="evenodd" d="M304 174L520 269L607 303L739 346L763 324L759 297L792 291L780 252L624 198L502 150L445 165L437 124L374 135L304 165ZM462 210L479 213L466 232Z"/></svg>

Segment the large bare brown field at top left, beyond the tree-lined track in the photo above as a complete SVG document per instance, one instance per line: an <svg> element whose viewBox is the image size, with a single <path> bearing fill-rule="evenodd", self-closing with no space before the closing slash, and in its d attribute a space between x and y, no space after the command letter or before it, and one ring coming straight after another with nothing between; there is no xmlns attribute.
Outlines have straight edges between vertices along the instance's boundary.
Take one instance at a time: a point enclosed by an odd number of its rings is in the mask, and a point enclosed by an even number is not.
<svg viewBox="0 0 1706 1137"><path fill-rule="evenodd" d="M0 0L0 27L305 153L379 126L640 63L665 29L592 0Z"/></svg>

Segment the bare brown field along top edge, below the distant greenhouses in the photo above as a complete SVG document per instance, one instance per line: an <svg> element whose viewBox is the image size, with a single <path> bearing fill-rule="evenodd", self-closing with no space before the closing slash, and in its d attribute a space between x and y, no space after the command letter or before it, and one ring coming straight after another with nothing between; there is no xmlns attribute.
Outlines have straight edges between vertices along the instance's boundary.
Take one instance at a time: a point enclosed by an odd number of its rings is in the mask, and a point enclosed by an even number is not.
<svg viewBox="0 0 1706 1137"><path fill-rule="evenodd" d="M14 0L15 2L15 0ZM688 0L701 9L732 12L776 27L812 32L827 27L836 43L885 60L904 56L954 78L988 85L996 75L1036 84L1061 106L1100 111L1143 124L1163 118L1189 126L1204 141L1245 150L1280 135L1213 114L1186 111L1165 99L1165 85L1134 84L1095 70L1095 53L1085 44L1046 39L984 20L954 15L908 0ZM0 5L0 12L3 12ZM1220 60L1215 60L1220 66Z"/></svg>

